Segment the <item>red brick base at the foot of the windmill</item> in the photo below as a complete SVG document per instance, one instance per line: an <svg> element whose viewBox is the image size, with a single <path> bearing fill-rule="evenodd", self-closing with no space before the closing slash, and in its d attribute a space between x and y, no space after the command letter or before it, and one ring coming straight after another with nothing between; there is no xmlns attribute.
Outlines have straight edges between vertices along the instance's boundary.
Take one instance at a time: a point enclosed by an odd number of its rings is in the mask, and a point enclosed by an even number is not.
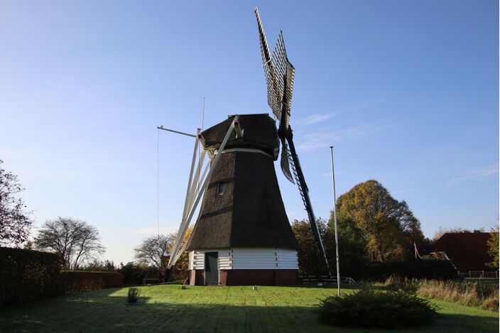
<svg viewBox="0 0 500 333"><path fill-rule="evenodd" d="M190 285L204 285L203 270L190 271ZM219 271L219 285L295 285L295 269L229 269Z"/></svg>

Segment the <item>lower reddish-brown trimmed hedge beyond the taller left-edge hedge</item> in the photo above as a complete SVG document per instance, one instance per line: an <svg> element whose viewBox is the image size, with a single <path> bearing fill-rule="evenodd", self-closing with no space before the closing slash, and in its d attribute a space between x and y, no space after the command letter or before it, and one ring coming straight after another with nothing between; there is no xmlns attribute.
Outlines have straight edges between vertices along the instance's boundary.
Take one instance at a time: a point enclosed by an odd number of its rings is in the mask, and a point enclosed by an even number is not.
<svg viewBox="0 0 500 333"><path fill-rule="evenodd" d="M62 271L60 288L66 293L116 288L124 284L124 275L116 272Z"/></svg>

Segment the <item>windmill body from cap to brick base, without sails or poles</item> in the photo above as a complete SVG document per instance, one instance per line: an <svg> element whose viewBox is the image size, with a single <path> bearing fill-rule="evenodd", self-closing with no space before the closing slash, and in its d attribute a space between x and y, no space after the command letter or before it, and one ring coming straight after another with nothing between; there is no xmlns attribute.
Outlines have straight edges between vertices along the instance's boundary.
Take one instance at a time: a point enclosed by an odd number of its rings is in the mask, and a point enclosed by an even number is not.
<svg viewBox="0 0 500 333"><path fill-rule="evenodd" d="M221 154L190 236L190 284L294 284L298 243L285 212L274 161L276 124L267 114L239 115L244 136L219 147L234 116L201 133Z"/></svg>

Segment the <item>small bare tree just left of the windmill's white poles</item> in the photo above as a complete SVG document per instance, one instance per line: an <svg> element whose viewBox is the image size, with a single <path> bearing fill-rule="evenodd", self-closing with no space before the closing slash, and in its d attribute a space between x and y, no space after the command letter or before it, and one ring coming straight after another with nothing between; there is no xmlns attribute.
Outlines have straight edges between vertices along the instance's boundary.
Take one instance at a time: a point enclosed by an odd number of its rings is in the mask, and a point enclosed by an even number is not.
<svg viewBox="0 0 500 333"><path fill-rule="evenodd" d="M144 239L136 249L135 258L143 263L148 263L158 268L165 268L162 258L168 254L168 249L173 245L175 236L173 234L151 236Z"/></svg>

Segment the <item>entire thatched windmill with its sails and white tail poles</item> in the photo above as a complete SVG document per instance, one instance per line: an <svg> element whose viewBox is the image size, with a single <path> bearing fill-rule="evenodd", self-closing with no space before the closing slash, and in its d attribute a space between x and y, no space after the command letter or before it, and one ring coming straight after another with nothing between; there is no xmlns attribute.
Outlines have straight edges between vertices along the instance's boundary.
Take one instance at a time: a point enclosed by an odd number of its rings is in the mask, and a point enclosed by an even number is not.
<svg viewBox="0 0 500 333"><path fill-rule="evenodd" d="M282 33L271 55L259 10L255 13L268 104L279 125L276 128L276 120L268 114L239 114L228 116L205 131L198 129L196 135L187 134L195 137L195 148L183 218L168 268L184 251L189 251L192 285L298 282L298 242L286 215L274 168L274 161L280 158L280 143L281 169L290 182L295 180L298 185L327 264L290 128L295 69L288 61ZM202 153L197 155L200 145ZM192 234L183 242L200 201ZM327 271L330 274L328 264Z"/></svg>

